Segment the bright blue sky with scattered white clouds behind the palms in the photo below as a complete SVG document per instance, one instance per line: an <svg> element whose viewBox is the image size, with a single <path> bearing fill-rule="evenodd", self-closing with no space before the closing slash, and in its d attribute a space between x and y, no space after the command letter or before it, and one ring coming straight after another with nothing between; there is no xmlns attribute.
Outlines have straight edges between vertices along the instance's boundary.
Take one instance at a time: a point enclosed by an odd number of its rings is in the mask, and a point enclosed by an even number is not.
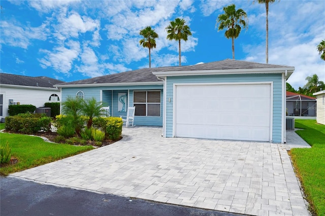
<svg viewBox="0 0 325 216"><path fill-rule="evenodd" d="M65 82L148 67L139 31L158 33L151 66L178 65L178 43L166 26L184 18L192 37L182 46L182 65L232 58L231 40L215 28L223 7L248 15L248 30L235 40L235 59L265 63L265 5L253 1L1 1L1 73L48 76ZM269 63L295 66L296 89L325 61L316 46L325 40L325 1L275 2L269 9Z"/></svg>

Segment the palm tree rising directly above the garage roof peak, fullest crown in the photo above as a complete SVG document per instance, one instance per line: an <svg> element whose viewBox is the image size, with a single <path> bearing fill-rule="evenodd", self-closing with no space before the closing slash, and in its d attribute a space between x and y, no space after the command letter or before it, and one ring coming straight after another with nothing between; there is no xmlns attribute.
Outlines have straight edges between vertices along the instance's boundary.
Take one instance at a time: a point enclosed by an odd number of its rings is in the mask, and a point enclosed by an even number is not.
<svg viewBox="0 0 325 216"><path fill-rule="evenodd" d="M248 28L247 14L242 9L236 11L236 6L230 5L223 8L224 14L220 14L216 20L219 23L218 31L227 29L224 36L232 39L233 59L235 59L234 39L238 38L239 33L243 28Z"/></svg>

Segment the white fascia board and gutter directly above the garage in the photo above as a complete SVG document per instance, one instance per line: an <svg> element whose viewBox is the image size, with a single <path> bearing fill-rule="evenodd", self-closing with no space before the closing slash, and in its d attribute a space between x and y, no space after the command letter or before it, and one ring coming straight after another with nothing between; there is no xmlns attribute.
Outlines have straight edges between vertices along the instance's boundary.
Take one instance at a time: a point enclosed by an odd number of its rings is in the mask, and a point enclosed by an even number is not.
<svg viewBox="0 0 325 216"><path fill-rule="evenodd" d="M200 75L229 75L229 74L282 74L288 72L286 79L294 72L295 67L250 68L250 69L221 69L221 70L184 70L152 72L157 77L200 76Z"/></svg>

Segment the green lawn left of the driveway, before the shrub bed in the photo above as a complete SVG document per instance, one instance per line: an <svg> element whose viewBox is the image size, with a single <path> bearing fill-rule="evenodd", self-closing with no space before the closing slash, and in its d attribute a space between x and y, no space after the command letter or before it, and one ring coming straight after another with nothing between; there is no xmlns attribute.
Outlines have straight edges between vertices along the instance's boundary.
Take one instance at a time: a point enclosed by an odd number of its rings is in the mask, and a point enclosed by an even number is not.
<svg viewBox="0 0 325 216"><path fill-rule="evenodd" d="M0 128L2 126L0 124ZM93 149L92 146L49 143L36 136L0 133L0 145L5 145L7 141L11 147L12 156L18 159L18 163L2 165L1 175L40 166Z"/></svg>

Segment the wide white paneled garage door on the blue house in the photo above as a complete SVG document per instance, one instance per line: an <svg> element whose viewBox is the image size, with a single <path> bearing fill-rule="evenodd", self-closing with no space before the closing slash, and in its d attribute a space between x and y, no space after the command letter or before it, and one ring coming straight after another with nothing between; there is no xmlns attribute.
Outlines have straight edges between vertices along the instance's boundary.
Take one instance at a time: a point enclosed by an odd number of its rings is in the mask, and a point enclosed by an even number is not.
<svg viewBox="0 0 325 216"><path fill-rule="evenodd" d="M176 85L177 137L270 141L271 84Z"/></svg>

